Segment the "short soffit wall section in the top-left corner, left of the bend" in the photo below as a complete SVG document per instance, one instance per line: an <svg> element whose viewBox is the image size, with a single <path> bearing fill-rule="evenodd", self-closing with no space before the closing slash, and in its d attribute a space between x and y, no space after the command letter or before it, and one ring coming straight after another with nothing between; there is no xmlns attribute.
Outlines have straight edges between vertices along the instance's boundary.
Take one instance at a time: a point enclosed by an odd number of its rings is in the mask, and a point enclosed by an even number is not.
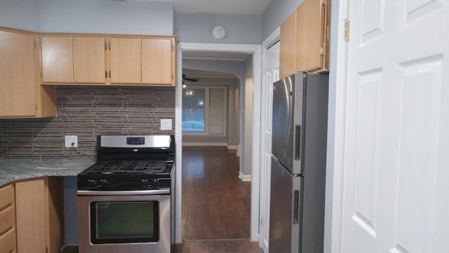
<svg viewBox="0 0 449 253"><path fill-rule="evenodd" d="M0 0L0 26L22 30L37 30L35 0Z"/></svg>

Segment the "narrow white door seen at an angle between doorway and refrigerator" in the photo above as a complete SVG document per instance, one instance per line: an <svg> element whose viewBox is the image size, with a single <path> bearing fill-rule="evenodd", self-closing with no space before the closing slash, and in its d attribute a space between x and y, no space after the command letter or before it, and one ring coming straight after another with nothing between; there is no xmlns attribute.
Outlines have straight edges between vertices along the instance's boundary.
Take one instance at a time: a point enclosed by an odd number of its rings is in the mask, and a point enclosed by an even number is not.
<svg viewBox="0 0 449 253"><path fill-rule="evenodd" d="M273 83L279 80L279 41L265 51L261 134L262 160L260 161L260 245L268 252L269 242L269 191L272 167L272 110Z"/></svg>

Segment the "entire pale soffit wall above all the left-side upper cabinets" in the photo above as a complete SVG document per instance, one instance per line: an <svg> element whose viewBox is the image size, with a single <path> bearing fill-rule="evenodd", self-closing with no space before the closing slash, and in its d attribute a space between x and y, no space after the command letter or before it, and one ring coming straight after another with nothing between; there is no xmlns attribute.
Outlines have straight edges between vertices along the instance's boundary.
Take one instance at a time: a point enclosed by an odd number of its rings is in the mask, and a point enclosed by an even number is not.
<svg viewBox="0 0 449 253"><path fill-rule="evenodd" d="M0 25L35 32L173 35L171 3L0 0Z"/></svg>

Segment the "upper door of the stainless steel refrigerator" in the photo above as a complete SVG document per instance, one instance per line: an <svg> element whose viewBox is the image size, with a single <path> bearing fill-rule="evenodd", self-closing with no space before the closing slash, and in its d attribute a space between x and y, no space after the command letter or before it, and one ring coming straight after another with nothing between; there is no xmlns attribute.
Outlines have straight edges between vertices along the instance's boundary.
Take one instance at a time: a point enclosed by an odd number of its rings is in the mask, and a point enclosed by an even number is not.
<svg viewBox="0 0 449 253"><path fill-rule="evenodd" d="M293 174L301 172L303 79L300 72L273 84L272 154Z"/></svg>

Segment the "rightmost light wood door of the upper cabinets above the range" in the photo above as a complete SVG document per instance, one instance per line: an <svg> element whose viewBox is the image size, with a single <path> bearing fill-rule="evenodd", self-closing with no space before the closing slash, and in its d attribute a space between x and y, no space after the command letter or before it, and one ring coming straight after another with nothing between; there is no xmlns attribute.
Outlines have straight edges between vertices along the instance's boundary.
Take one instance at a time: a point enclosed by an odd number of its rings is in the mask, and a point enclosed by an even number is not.
<svg viewBox="0 0 449 253"><path fill-rule="evenodd" d="M142 39L142 84L175 85L172 39Z"/></svg>

